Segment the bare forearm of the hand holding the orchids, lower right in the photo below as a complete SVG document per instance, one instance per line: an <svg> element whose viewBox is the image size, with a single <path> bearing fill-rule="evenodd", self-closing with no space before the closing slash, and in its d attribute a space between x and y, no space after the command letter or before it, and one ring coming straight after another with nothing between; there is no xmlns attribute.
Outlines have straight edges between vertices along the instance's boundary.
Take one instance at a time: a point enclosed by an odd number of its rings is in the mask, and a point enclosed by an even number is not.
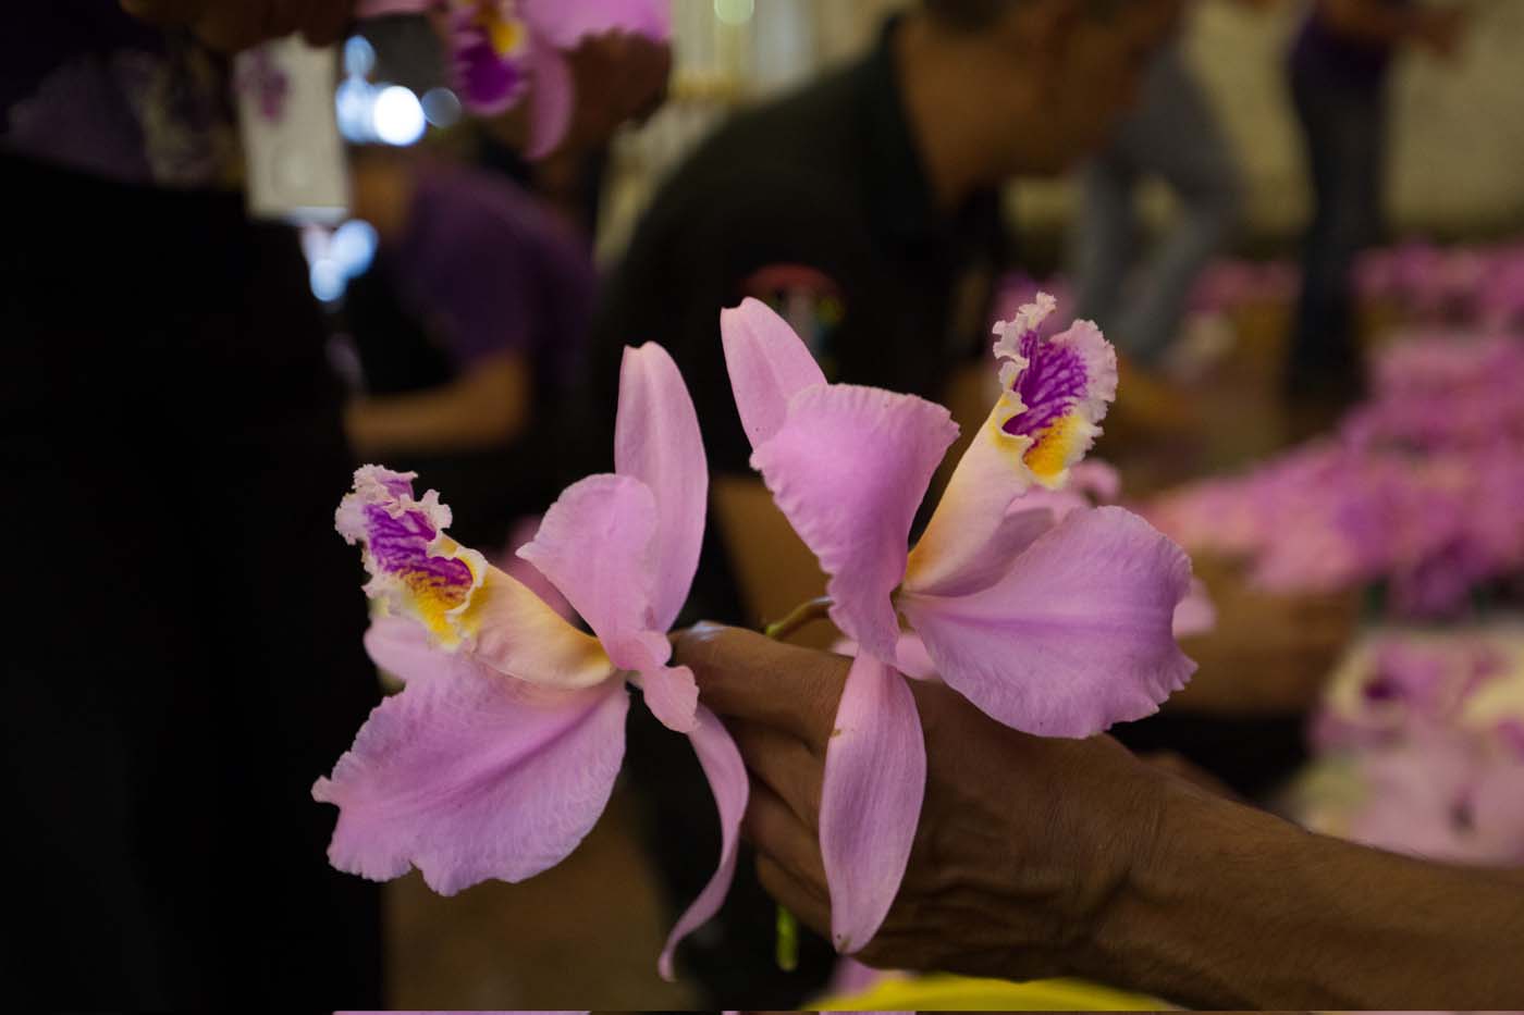
<svg viewBox="0 0 1524 1015"><path fill-rule="evenodd" d="M1498 1009L1524 998L1524 876L1312 835L1170 785L1084 971L1204 1007Z"/></svg>

